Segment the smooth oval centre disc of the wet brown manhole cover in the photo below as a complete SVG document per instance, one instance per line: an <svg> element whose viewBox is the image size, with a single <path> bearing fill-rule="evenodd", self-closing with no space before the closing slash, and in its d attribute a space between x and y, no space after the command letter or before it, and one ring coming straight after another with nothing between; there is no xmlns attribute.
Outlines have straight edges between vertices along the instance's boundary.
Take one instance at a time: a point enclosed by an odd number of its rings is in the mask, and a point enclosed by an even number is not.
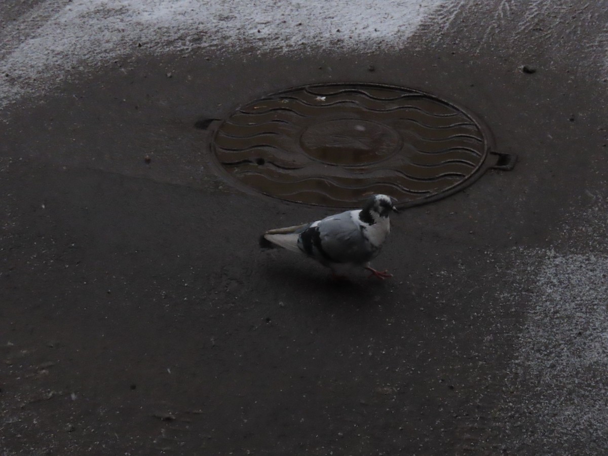
<svg viewBox="0 0 608 456"><path fill-rule="evenodd" d="M396 153L399 135L381 123L336 119L309 126L300 138L300 145L313 159L357 166L375 163Z"/></svg>

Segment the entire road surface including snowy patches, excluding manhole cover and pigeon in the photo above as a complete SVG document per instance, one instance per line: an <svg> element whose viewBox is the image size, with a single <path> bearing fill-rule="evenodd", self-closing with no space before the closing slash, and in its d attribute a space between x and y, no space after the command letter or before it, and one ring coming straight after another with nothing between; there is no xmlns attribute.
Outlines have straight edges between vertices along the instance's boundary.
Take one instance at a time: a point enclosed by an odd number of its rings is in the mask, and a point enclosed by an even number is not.
<svg viewBox="0 0 608 456"><path fill-rule="evenodd" d="M0 21L3 456L605 454L608 2ZM519 157L393 216L384 282L261 251L334 211L235 187L195 128L342 81L466 106Z"/></svg>

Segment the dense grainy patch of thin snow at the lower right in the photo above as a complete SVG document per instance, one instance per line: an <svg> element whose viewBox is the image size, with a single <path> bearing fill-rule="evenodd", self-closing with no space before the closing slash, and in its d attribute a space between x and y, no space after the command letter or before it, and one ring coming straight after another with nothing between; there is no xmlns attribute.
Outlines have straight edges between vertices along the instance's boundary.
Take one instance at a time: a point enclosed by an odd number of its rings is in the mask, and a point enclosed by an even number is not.
<svg viewBox="0 0 608 456"><path fill-rule="evenodd" d="M515 366L539 446L608 435L607 273L606 256L553 253L539 271Z"/></svg>

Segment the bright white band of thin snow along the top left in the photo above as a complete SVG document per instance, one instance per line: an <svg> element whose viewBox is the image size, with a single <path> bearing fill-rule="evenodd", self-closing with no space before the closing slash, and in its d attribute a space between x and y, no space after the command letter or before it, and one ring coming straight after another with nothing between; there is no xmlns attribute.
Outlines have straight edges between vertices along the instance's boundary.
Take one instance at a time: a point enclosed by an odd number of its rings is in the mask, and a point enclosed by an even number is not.
<svg viewBox="0 0 608 456"><path fill-rule="evenodd" d="M398 49L444 1L47 0L1 32L10 51L0 53L0 106L140 46L224 55Z"/></svg>

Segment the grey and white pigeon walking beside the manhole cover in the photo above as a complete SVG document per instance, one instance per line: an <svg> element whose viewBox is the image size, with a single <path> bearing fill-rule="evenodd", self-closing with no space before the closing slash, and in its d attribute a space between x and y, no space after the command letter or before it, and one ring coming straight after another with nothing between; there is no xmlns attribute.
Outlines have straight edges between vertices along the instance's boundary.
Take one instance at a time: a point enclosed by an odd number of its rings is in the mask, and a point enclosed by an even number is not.
<svg viewBox="0 0 608 456"><path fill-rule="evenodd" d="M363 209L347 210L313 223L268 230L260 239L262 247L283 247L300 252L331 269L334 278L344 278L338 271L356 267L367 269L369 277L384 280L393 277L388 271L371 268L390 231L390 212L399 212L387 195L373 195Z"/></svg>

